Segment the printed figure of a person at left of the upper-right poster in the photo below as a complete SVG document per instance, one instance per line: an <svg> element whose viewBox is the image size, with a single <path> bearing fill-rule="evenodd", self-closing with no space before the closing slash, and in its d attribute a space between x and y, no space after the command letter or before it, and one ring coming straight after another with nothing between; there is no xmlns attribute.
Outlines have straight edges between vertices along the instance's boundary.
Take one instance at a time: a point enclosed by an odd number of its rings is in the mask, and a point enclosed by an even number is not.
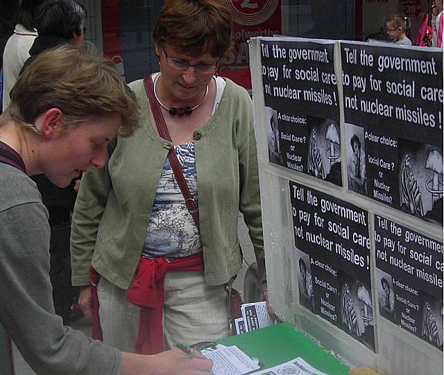
<svg viewBox="0 0 444 375"><path fill-rule="evenodd" d="M348 164L348 189L366 195L366 155L356 134L350 139L352 153Z"/></svg>

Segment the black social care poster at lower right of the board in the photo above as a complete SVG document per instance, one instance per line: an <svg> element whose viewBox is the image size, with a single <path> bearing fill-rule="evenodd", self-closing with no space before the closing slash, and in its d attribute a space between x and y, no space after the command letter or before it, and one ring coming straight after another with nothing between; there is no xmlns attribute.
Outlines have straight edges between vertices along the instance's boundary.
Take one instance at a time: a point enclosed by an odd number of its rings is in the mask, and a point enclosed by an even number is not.
<svg viewBox="0 0 444 375"><path fill-rule="evenodd" d="M443 350L443 243L375 215L379 314Z"/></svg>

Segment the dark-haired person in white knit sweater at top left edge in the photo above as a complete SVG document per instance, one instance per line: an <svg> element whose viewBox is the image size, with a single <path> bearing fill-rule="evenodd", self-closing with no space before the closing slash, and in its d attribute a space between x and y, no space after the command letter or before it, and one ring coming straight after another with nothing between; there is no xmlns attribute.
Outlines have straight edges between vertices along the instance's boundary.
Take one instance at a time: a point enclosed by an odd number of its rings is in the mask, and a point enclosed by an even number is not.
<svg viewBox="0 0 444 375"><path fill-rule="evenodd" d="M35 9L43 0L22 0L15 19L14 34L6 42L3 51L3 111L10 102L10 91L19 76L20 69L29 58L29 49L37 37Z"/></svg>

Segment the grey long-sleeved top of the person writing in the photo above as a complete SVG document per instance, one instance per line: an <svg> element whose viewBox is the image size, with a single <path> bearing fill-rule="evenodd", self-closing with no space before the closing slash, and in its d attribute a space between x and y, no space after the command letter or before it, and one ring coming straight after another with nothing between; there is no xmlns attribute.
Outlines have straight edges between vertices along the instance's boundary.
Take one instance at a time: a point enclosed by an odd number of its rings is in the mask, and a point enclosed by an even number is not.
<svg viewBox="0 0 444 375"><path fill-rule="evenodd" d="M49 280L48 212L35 183L0 163L0 323L37 374L121 374L121 352L63 326Z"/></svg>

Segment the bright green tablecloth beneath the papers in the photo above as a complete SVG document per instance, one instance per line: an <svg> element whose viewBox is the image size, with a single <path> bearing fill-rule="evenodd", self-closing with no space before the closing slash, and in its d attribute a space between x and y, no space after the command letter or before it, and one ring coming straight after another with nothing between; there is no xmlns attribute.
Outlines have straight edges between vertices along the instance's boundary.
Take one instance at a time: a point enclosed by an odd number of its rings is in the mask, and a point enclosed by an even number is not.
<svg viewBox="0 0 444 375"><path fill-rule="evenodd" d="M276 324L220 341L223 345L236 345L248 356L258 358L263 369L301 357L311 366L328 375L347 375L348 367L318 347L286 323Z"/></svg>

